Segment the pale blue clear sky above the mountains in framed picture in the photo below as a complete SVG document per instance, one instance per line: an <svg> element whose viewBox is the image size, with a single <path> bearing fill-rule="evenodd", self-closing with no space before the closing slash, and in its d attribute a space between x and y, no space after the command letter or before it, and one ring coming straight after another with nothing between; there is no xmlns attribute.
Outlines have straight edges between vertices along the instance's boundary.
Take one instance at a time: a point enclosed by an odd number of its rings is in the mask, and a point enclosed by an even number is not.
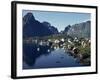
<svg viewBox="0 0 100 80"><path fill-rule="evenodd" d="M23 10L22 16L28 12L33 13L36 20L39 22L47 21L52 26L55 26L58 31L62 31L68 25L74 25L91 19L90 13L75 13L75 12L53 12L53 11L34 11Z"/></svg>

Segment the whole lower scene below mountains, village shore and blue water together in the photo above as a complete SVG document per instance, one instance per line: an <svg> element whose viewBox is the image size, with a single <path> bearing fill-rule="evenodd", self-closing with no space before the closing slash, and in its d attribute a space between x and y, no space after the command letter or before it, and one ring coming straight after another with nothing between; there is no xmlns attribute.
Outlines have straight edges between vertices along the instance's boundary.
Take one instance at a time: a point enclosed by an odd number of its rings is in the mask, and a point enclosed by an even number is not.
<svg viewBox="0 0 100 80"><path fill-rule="evenodd" d="M23 40L23 69L91 65L88 38L52 35Z"/></svg>

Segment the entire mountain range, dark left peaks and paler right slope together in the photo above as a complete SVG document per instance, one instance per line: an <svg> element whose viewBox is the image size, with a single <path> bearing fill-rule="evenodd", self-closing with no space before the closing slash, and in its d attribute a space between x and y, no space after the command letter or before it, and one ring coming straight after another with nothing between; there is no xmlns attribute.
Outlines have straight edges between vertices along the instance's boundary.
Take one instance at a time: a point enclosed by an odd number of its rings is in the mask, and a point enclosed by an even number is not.
<svg viewBox="0 0 100 80"><path fill-rule="evenodd" d="M39 22L35 19L32 13L27 13L23 17L23 37L42 37L53 34L64 34L71 37L90 38L91 21L86 21L74 25L68 25L64 31L58 32L58 29L52 26L49 22Z"/></svg>

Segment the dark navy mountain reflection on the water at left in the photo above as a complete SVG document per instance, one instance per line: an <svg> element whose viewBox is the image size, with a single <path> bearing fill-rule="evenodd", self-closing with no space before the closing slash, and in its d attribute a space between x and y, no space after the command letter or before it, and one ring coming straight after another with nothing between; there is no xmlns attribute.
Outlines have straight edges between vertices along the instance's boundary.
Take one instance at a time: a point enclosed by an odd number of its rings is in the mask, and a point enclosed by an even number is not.
<svg viewBox="0 0 100 80"><path fill-rule="evenodd" d="M40 51L37 50L37 48L40 49ZM37 58L39 58L42 55L48 55L50 52L48 52L48 49L50 49L50 46L38 46L34 44L24 44L23 45L23 61L28 66L33 66L35 64L35 61Z"/></svg>

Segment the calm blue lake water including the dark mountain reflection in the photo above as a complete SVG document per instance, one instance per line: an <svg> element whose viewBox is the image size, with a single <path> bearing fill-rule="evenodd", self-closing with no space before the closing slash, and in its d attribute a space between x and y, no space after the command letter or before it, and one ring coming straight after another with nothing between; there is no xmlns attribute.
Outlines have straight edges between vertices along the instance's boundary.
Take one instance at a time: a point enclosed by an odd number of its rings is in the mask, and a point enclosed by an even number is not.
<svg viewBox="0 0 100 80"><path fill-rule="evenodd" d="M78 59L63 48L23 45L23 69L78 67Z"/></svg>

